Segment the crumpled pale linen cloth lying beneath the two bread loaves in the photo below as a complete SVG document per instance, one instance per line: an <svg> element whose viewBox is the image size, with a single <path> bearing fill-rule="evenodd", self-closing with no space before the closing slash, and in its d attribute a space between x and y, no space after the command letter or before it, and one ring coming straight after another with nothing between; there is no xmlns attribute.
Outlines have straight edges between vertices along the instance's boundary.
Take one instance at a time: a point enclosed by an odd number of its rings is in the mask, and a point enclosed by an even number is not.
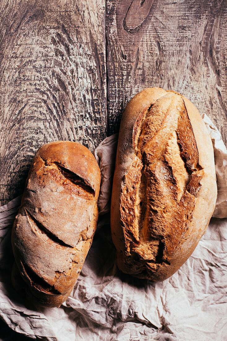
<svg viewBox="0 0 227 341"><path fill-rule="evenodd" d="M115 263L109 210L117 134L94 150L102 174L99 223L75 287L60 308L36 310L14 291L11 228L21 197L0 207L0 317L10 328L56 341L227 340L227 152L217 128L206 115L203 120L214 146L214 218L191 257L164 282L133 278Z"/></svg>

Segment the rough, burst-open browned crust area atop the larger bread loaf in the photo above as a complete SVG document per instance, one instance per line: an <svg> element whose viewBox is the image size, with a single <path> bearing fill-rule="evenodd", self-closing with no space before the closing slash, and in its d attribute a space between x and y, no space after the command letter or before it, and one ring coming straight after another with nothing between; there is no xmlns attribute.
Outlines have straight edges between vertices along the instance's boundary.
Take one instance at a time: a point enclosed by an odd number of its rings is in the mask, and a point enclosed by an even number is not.
<svg viewBox="0 0 227 341"><path fill-rule="evenodd" d="M180 95L167 93L138 115L133 148L134 161L124 175L120 198L130 256L125 257L125 266L155 280L153 271L162 263L170 264L169 257L187 231L203 177Z"/></svg>

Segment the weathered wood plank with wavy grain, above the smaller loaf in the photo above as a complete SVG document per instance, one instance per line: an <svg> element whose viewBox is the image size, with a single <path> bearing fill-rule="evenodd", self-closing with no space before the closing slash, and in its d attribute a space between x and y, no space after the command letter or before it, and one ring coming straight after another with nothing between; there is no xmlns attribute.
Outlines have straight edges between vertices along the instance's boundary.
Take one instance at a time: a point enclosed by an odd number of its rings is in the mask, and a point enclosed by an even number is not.
<svg viewBox="0 0 227 341"><path fill-rule="evenodd" d="M2 204L24 190L53 140L91 150L106 137L105 0L1 0Z"/></svg>

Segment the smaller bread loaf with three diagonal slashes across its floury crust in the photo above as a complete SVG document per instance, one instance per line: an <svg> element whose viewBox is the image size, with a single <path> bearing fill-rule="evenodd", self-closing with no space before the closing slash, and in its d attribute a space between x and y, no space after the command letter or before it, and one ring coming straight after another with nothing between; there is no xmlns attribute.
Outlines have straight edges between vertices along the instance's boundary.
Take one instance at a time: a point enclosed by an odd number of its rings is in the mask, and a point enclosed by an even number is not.
<svg viewBox="0 0 227 341"><path fill-rule="evenodd" d="M36 306L58 307L70 295L96 229L100 169L75 142L35 154L12 230L12 283Z"/></svg>

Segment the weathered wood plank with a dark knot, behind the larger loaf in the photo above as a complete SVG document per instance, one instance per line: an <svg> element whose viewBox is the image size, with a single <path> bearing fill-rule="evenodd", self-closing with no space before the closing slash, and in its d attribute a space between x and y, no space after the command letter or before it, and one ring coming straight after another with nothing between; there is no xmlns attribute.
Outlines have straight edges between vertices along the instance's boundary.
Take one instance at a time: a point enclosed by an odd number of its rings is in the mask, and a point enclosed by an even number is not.
<svg viewBox="0 0 227 341"><path fill-rule="evenodd" d="M107 0L108 134L146 87L178 91L227 141L227 1Z"/></svg>

